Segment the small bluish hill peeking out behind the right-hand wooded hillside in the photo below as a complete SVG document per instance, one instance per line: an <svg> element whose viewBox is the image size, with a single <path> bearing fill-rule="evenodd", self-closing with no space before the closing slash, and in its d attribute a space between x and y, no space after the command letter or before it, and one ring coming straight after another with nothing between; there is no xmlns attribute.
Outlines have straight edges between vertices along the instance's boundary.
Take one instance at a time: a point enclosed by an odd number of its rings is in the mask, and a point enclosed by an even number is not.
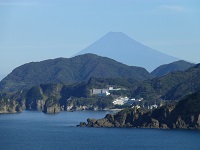
<svg viewBox="0 0 200 150"><path fill-rule="evenodd" d="M184 60L179 60L179 61L175 61L173 63L169 63L169 64L165 64L165 65L161 65L158 68L156 68L155 70L153 70L151 72L152 75L156 76L156 77L161 77L164 76L170 72L175 72L175 71L184 71L190 67L193 67L195 64L193 63L189 63L187 61Z"/></svg>

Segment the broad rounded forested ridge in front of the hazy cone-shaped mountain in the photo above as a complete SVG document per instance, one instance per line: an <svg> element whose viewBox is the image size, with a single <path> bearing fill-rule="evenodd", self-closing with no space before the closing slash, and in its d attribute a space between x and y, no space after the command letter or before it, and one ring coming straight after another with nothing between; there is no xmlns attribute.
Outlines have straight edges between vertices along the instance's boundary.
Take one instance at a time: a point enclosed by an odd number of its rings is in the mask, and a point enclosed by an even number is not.
<svg viewBox="0 0 200 150"><path fill-rule="evenodd" d="M90 77L144 80L152 78L152 75L141 67L127 66L106 57L85 54L22 65L0 82L0 90L15 91L42 83L71 84Z"/></svg>

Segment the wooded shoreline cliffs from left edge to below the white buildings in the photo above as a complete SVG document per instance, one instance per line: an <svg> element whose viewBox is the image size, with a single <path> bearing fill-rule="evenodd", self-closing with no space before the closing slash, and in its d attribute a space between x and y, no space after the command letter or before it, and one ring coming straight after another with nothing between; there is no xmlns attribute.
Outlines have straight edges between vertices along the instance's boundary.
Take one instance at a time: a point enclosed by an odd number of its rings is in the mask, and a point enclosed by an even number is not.
<svg viewBox="0 0 200 150"><path fill-rule="evenodd" d="M87 83L41 84L15 94L0 93L0 113L22 109L58 113L61 110L106 110L113 107L111 96L91 96L89 90Z"/></svg>

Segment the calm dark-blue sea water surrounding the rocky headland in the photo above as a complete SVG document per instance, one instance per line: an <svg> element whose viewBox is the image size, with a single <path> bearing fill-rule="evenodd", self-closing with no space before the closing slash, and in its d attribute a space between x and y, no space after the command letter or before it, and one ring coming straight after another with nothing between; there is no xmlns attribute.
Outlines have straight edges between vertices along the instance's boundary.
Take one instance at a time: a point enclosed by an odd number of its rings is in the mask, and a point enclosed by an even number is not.
<svg viewBox="0 0 200 150"><path fill-rule="evenodd" d="M106 111L61 112L47 115L24 111L0 115L0 150L180 150L200 149L200 131L75 127Z"/></svg>

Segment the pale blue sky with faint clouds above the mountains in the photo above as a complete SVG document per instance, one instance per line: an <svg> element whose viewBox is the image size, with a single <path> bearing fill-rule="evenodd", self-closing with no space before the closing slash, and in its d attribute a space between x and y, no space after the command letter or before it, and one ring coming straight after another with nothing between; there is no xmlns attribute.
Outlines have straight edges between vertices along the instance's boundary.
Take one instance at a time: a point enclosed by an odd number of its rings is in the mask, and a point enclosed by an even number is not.
<svg viewBox="0 0 200 150"><path fill-rule="evenodd" d="M0 75L72 57L110 31L200 63L199 8L199 0L0 0Z"/></svg>

